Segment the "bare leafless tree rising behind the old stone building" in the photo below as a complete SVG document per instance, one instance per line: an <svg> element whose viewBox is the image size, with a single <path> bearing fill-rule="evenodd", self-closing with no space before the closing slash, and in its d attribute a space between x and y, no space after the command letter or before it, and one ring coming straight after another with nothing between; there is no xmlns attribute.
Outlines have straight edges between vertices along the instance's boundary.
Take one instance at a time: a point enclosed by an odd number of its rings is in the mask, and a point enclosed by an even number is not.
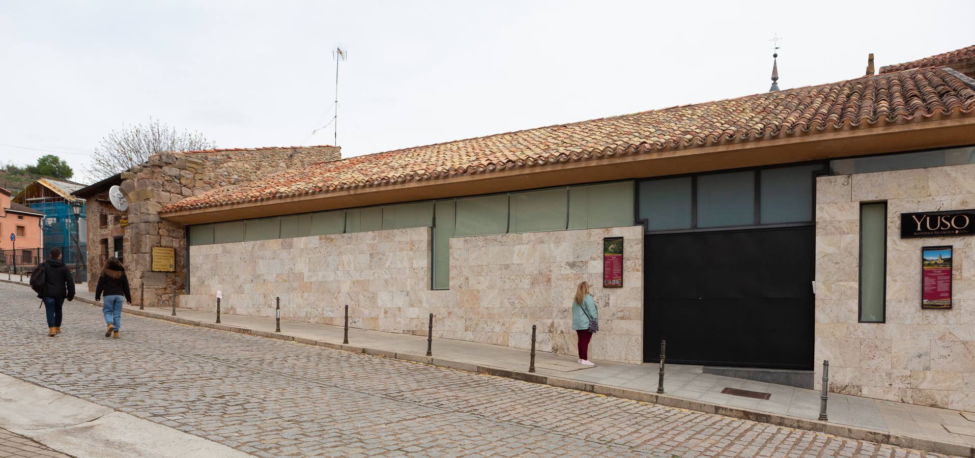
<svg viewBox="0 0 975 458"><path fill-rule="evenodd" d="M165 151L189 151L214 148L216 143L199 132L177 132L157 119L146 124L125 126L101 137L92 162L86 168L95 179L128 171L145 162L149 156Z"/></svg>

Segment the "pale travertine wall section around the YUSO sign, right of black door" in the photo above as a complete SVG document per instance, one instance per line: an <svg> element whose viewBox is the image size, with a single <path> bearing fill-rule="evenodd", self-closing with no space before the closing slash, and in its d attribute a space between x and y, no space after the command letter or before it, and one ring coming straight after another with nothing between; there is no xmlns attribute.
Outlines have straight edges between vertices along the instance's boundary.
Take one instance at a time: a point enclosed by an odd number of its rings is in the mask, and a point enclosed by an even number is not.
<svg viewBox="0 0 975 458"><path fill-rule="evenodd" d="M816 195L816 383L975 410L975 237L901 239L900 213L975 209L975 165L823 176ZM860 203L887 201L886 323L858 323ZM920 248L954 246L954 307L920 308Z"/></svg>

